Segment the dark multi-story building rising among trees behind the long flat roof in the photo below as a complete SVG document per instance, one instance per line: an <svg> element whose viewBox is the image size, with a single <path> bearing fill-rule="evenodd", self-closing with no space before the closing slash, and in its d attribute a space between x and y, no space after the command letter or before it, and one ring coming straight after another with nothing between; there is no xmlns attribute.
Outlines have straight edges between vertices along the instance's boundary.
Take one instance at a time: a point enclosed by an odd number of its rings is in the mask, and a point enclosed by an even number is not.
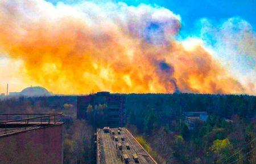
<svg viewBox="0 0 256 164"><path fill-rule="evenodd" d="M96 113L97 110L103 114L101 119L104 119L104 123L101 126L123 127L126 123L125 96L122 94L97 92L77 97L78 119L88 119L88 112Z"/></svg>

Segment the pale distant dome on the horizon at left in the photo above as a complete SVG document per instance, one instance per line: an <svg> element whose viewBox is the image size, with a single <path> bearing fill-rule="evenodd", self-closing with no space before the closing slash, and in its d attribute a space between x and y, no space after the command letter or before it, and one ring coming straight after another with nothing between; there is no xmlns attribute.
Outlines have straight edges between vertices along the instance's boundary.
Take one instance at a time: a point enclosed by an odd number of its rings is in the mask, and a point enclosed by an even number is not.
<svg viewBox="0 0 256 164"><path fill-rule="evenodd" d="M23 89L20 95L27 97L50 96L51 92L48 92L48 90L43 87L28 87Z"/></svg>

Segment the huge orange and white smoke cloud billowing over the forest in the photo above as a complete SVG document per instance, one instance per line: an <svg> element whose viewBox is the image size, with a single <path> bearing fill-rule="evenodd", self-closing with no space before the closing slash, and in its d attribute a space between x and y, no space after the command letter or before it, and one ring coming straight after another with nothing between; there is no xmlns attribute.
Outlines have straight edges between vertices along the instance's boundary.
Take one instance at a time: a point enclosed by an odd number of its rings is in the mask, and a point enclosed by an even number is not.
<svg viewBox="0 0 256 164"><path fill-rule="evenodd" d="M246 93L204 49L175 41L180 17L158 6L0 2L0 51L57 93Z"/></svg>

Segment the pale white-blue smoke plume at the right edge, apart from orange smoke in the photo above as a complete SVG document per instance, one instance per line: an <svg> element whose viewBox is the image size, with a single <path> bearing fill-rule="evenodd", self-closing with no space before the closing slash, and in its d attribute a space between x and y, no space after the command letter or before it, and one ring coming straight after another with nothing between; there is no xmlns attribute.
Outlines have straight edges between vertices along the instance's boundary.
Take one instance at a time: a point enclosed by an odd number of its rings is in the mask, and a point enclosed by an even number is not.
<svg viewBox="0 0 256 164"><path fill-rule="evenodd" d="M201 20L200 37L216 53L225 67L250 89L247 93L256 92L256 33L251 25L234 17L222 23Z"/></svg>

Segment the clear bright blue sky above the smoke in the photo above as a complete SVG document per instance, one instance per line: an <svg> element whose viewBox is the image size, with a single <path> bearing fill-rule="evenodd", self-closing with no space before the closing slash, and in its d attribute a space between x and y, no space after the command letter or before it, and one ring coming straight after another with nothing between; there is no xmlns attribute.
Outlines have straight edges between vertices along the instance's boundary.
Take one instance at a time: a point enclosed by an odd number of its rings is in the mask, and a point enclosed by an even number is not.
<svg viewBox="0 0 256 164"><path fill-rule="evenodd" d="M60 2L60 0L48 1L54 4ZM79 1L61 0L64 3L77 3ZM112 1L119 2L118 0ZM239 16L250 23L254 31L256 27L256 0L123 0L122 2L133 6L145 3L166 7L181 16L182 32L185 33L195 31L197 29L196 23L201 18L208 18L220 23L228 18Z"/></svg>

